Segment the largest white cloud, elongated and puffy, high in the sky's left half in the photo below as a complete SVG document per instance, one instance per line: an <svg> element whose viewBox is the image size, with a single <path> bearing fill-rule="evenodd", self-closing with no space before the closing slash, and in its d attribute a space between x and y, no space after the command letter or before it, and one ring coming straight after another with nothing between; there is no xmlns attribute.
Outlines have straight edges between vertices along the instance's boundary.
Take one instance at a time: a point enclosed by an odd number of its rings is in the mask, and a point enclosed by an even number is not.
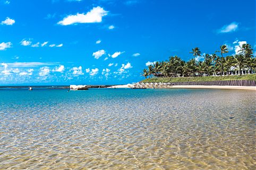
<svg viewBox="0 0 256 170"><path fill-rule="evenodd" d="M71 25L74 23L95 23L101 22L102 17L107 15L107 11L105 11L102 7L93 7L90 12L86 14L77 13L76 15L69 15L65 17L62 21L59 21L58 24L61 25Z"/></svg>

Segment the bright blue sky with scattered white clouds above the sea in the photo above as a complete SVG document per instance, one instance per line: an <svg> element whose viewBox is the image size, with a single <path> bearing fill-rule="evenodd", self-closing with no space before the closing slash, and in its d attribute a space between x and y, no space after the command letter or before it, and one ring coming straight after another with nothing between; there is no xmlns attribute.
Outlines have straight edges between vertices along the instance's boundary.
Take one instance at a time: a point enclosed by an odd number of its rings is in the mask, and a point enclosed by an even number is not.
<svg viewBox="0 0 256 170"><path fill-rule="evenodd" d="M255 49L255 1L0 0L0 85L125 84L192 48Z"/></svg>

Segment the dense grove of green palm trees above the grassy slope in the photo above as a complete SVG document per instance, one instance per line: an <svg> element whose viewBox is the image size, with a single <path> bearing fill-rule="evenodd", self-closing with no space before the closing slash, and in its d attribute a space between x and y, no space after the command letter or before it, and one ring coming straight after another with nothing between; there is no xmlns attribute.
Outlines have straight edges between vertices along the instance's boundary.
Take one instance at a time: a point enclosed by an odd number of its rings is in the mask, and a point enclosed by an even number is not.
<svg viewBox="0 0 256 170"><path fill-rule="evenodd" d="M255 73L256 59L253 57L253 49L250 44L242 44L236 51L236 55L226 56L228 53L226 45L220 46L220 49L212 54L202 54L198 47L190 52L193 59L184 61L178 56L171 56L166 61L157 61L148 69L143 69L142 75L147 77L161 77L154 80L171 81L189 81L189 80L229 80L229 79L254 79L254 75L246 76L212 76L212 75L243 75L246 73ZM217 55L220 54L220 56ZM201 59L203 59L201 61ZM177 78L173 78L177 77ZM165 81L166 79L166 81Z"/></svg>

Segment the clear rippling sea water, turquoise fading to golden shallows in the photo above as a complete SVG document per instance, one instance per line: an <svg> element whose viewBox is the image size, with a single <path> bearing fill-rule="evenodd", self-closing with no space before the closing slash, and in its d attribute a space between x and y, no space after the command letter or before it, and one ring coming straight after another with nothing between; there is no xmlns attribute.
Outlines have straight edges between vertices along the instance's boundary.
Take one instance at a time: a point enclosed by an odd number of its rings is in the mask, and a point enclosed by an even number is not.
<svg viewBox="0 0 256 170"><path fill-rule="evenodd" d="M255 91L0 90L0 169L255 169Z"/></svg>

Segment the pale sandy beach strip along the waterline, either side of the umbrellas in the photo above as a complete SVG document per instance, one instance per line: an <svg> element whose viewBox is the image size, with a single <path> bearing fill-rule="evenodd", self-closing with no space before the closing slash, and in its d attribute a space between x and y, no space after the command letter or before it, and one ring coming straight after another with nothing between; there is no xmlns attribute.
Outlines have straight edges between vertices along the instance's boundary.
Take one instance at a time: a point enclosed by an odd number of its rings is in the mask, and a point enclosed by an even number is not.
<svg viewBox="0 0 256 170"><path fill-rule="evenodd" d="M133 85L126 84L126 85L116 85L111 86L108 88L131 88ZM161 87L161 88L220 88L220 89L236 89L236 90L254 90L256 91L255 86L168 86L168 87Z"/></svg>

